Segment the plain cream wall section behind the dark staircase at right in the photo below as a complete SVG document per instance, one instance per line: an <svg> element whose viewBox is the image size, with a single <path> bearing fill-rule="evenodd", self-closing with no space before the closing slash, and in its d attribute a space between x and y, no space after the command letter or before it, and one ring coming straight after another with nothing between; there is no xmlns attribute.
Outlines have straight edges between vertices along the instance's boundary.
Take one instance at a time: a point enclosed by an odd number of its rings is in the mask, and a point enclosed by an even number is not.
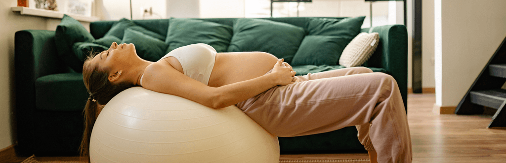
<svg viewBox="0 0 506 163"><path fill-rule="evenodd" d="M436 104L456 106L506 36L506 1L435 0L439 5L441 15L439 7L434 12Z"/></svg>

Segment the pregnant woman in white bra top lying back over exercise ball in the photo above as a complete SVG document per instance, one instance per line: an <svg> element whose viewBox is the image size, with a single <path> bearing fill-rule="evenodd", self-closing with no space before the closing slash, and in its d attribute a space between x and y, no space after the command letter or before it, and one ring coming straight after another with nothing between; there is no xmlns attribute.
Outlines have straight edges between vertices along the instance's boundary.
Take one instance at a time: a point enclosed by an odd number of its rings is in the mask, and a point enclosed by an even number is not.
<svg viewBox="0 0 506 163"><path fill-rule="evenodd" d="M294 76L266 52L216 52L207 44L172 50L157 62L134 44L117 44L83 65L90 92L81 155L103 106L119 92L142 86L212 108L236 105L271 134L303 136L356 126L371 162L411 162L411 138L395 79L364 67ZM376 160L377 159L377 160Z"/></svg>

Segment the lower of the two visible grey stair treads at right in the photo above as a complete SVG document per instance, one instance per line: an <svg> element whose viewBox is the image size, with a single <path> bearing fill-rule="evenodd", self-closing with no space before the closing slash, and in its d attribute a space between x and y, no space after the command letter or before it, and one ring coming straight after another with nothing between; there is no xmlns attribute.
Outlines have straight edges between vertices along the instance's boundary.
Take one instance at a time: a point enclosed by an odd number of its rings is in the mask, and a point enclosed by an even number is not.
<svg viewBox="0 0 506 163"><path fill-rule="evenodd" d="M491 89L470 92L471 103L498 109L506 101L506 90Z"/></svg>

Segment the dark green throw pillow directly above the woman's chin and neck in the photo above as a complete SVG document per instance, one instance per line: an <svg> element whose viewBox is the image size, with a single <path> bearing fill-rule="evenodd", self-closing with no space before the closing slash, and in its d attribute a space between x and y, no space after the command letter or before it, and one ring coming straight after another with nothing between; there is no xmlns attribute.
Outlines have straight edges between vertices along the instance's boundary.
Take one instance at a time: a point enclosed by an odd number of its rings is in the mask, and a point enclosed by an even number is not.
<svg viewBox="0 0 506 163"><path fill-rule="evenodd" d="M156 62L164 55L165 42L132 29L126 29L121 43L133 43L137 55L144 60Z"/></svg>

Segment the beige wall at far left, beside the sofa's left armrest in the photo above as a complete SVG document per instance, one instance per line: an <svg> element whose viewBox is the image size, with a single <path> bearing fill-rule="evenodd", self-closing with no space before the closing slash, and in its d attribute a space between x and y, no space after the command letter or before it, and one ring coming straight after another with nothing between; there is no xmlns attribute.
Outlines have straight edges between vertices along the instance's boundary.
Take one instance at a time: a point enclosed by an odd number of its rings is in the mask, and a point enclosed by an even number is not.
<svg viewBox="0 0 506 163"><path fill-rule="evenodd" d="M46 29L46 19L12 12L17 1L0 1L0 149L15 143L14 33Z"/></svg>

